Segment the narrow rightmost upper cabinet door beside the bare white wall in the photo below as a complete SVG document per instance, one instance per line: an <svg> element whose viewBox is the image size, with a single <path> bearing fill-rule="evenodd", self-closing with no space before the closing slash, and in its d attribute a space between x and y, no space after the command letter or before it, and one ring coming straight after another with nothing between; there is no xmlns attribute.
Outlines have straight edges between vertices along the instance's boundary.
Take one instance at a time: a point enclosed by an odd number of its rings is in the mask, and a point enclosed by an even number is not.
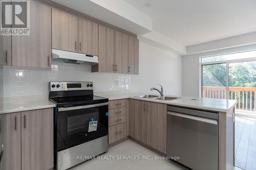
<svg viewBox="0 0 256 170"><path fill-rule="evenodd" d="M128 36L128 74L139 74L139 40Z"/></svg>

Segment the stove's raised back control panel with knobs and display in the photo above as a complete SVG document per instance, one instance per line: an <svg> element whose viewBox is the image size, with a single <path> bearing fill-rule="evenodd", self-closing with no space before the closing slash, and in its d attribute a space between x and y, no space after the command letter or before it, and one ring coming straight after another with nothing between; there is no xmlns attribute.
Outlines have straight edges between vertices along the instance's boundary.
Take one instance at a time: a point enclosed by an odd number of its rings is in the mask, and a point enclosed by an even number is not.
<svg viewBox="0 0 256 170"><path fill-rule="evenodd" d="M50 82L50 91L93 90L93 82Z"/></svg>

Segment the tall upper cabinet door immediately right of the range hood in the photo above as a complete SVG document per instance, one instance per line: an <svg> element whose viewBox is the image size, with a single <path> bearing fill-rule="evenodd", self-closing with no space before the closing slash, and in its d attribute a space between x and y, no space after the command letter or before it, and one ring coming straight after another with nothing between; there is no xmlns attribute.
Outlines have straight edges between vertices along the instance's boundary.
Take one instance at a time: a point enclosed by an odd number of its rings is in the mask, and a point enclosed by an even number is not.
<svg viewBox="0 0 256 170"><path fill-rule="evenodd" d="M114 72L115 31L99 26L99 72Z"/></svg>

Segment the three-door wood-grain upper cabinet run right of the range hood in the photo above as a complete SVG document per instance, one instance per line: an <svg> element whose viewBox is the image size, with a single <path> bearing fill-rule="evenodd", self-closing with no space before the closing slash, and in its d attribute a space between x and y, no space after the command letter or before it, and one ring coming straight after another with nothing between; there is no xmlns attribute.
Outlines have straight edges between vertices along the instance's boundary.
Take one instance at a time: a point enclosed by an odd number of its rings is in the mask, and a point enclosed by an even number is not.
<svg viewBox="0 0 256 170"><path fill-rule="evenodd" d="M96 71L139 74L139 40L99 26L99 64L92 66Z"/></svg>

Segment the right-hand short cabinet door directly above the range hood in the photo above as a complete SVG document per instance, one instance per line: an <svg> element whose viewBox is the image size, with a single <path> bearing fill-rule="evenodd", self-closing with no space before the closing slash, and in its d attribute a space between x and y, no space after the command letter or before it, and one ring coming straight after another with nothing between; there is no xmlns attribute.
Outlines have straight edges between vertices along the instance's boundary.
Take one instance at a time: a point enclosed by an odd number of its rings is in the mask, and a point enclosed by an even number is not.
<svg viewBox="0 0 256 170"><path fill-rule="evenodd" d="M99 54L99 25L87 19L78 19L79 53Z"/></svg>

